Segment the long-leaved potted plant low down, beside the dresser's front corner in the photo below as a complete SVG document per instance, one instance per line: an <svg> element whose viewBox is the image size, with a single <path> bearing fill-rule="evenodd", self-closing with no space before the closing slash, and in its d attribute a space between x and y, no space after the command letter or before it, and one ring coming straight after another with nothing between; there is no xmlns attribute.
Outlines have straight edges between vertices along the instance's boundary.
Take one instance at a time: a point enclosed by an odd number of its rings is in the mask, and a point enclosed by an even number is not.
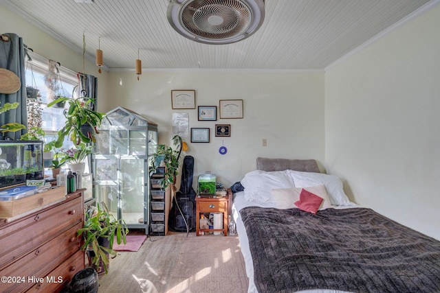
<svg viewBox="0 0 440 293"><path fill-rule="evenodd" d="M96 203L96 207L85 214L84 227L78 230L78 237L82 237L82 250L86 250L89 256L89 264L96 267L97 272L102 269L107 274L109 268L109 255L116 255L113 250L113 242L126 244L126 228L124 220L116 220L109 213L107 206Z"/></svg>

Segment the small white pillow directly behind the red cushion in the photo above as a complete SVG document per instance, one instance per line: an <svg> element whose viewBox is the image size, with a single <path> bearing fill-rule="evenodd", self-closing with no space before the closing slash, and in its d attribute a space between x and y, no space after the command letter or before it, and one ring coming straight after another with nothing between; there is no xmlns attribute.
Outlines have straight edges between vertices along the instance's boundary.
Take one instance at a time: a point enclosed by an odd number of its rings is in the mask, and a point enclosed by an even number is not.
<svg viewBox="0 0 440 293"><path fill-rule="evenodd" d="M327 191L325 190L324 185L318 185L313 187L304 187L305 190L311 192L312 194L316 194L320 198L322 198L322 203L320 205L321 209L328 209L331 207L331 202ZM294 188L279 188L272 189L272 196L274 196L276 202L277 209L292 209L296 208L295 202L300 200L300 193L303 188L294 187Z"/></svg>

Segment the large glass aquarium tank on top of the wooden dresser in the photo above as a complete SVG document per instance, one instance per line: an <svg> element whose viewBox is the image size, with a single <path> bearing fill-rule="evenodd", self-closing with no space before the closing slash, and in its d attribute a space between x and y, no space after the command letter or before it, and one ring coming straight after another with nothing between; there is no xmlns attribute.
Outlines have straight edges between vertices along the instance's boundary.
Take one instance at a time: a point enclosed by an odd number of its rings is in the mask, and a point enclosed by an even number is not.
<svg viewBox="0 0 440 293"><path fill-rule="evenodd" d="M43 178L43 141L0 141L0 188Z"/></svg>

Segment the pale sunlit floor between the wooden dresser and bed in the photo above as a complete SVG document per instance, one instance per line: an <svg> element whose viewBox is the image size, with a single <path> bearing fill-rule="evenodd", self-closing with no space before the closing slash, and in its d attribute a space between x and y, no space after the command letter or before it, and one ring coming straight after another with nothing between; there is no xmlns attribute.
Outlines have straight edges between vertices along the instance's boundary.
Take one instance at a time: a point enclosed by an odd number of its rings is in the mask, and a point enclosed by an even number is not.
<svg viewBox="0 0 440 293"><path fill-rule="evenodd" d="M100 293L209 293L248 291L237 236L174 233L148 236L137 252L118 251Z"/></svg>

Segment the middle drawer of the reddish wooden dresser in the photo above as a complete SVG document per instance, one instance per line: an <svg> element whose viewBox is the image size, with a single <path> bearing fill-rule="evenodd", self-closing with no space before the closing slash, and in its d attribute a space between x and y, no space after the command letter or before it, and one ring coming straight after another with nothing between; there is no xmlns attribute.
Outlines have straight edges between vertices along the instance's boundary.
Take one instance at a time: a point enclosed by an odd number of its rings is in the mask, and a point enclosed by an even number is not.
<svg viewBox="0 0 440 293"><path fill-rule="evenodd" d="M77 231L79 228L82 228L82 226L82 222L72 226L69 230L61 233L42 246L35 248L20 259L16 259L10 266L6 266L3 270L0 270L1 276L22 276L25 278L24 283L2 284L2 289L6 292L21 292L27 290L27 288L36 283L33 279L28 278L44 278L48 272L54 270L56 266L80 251ZM84 257L83 251L80 252Z"/></svg>

